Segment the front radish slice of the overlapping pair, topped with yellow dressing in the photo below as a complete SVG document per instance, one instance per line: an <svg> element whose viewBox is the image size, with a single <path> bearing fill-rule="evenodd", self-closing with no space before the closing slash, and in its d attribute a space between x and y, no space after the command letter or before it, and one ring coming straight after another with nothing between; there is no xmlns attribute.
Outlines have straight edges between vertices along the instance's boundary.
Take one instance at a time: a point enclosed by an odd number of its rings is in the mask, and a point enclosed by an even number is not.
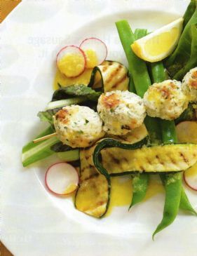
<svg viewBox="0 0 197 256"><path fill-rule="evenodd" d="M79 76L86 67L86 55L77 46L66 46L56 58L57 68L67 77Z"/></svg>

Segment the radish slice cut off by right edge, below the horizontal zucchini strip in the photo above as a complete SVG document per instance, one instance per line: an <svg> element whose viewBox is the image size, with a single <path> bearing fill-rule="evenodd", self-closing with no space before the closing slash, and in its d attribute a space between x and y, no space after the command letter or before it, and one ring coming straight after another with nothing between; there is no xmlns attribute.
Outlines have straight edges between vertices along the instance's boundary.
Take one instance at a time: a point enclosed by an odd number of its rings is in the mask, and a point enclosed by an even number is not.
<svg viewBox="0 0 197 256"><path fill-rule="evenodd" d="M188 187L197 191L197 163L184 172L184 182Z"/></svg>

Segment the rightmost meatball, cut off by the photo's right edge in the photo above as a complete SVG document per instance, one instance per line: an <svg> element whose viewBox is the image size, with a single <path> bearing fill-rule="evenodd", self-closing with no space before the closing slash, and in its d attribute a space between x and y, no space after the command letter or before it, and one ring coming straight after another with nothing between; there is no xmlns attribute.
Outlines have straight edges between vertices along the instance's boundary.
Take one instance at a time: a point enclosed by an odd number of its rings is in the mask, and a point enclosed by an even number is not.
<svg viewBox="0 0 197 256"><path fill-rule="evenodd" d="M184 76L182 90L189 98L189 101L197 101L197 67L190 69Z"/></svg>

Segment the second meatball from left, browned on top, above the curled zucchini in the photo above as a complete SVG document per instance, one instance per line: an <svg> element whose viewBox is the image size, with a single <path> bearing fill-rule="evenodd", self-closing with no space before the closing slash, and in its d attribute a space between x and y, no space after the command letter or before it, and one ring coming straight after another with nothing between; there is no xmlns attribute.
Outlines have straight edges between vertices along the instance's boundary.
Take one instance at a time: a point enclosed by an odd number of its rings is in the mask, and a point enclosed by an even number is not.
<svg viewBox="0 0 197 256"><path fill-rule="evenodd" d="M102 93L97 112L104 122L104 131L111 135L125 135L141 126L146 116L142 98L128 90Z"/></svg>

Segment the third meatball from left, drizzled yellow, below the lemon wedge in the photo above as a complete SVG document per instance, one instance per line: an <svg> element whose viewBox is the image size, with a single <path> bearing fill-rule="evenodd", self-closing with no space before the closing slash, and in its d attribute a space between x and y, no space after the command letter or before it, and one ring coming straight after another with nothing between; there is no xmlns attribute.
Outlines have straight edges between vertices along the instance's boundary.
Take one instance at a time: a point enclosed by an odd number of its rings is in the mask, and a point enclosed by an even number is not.
<svg viewBox="0 0 197 256"><path fill-rule="evenodd" d="M144 94L144 105L149 116L174 120L184 112L188 100L182 91L181 82L165 80L149 87Z"/></svg>

